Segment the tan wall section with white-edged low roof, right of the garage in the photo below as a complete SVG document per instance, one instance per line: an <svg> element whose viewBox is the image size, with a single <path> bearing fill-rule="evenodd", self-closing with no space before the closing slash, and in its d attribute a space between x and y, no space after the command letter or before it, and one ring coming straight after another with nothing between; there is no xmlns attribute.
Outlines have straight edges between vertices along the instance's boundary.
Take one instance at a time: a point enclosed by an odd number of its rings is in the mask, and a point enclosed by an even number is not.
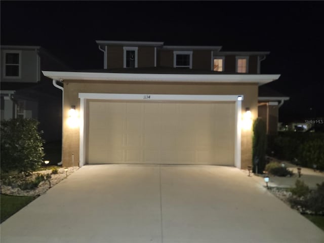
<svg viewBox="0 0 324 243"><path fill-rule="evenodd" d="M259 87L258 116L266 122L267 134L278 133L279 108L289 97L280 94L266 86Z"/></svg>

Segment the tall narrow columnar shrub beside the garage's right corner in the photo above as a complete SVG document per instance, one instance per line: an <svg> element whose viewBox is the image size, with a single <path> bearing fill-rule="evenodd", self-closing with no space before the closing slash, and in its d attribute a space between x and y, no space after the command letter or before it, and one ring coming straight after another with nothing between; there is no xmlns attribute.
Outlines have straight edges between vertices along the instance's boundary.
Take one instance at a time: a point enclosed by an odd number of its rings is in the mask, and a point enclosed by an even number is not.
<svg viewBox="0 0 324 243"><path fill-rule="evenodd" d="M253 146L252 157L254 159L253 172L262 173L265 167L265 153L267 148L266 125L264 120L257 118L253 124ZM256 163L257 161L257 163Z"/></svg>

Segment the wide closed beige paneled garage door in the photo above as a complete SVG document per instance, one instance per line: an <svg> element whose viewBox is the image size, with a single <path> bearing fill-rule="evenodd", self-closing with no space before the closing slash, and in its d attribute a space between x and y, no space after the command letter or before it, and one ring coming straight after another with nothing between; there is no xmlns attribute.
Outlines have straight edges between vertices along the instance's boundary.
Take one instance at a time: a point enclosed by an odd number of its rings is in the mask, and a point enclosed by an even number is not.
<svg viewBox="0 0 324 243"><path fill-rule="evenodd" d="M234 165L234 102L90 100L88 164Z"/></svg>

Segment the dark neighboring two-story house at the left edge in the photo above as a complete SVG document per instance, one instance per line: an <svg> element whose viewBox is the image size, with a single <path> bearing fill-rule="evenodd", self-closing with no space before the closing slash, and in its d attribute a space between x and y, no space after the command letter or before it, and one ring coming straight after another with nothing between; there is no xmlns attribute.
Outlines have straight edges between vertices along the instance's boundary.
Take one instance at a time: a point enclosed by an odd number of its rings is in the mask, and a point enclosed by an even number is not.
<svg viewBox="0 0 324 243"><path fill-rule="evenodd" d="M1 120L35 118L46 141L62 137L62 92L41 70L66 66L38 46L1 46Z"/></svg>

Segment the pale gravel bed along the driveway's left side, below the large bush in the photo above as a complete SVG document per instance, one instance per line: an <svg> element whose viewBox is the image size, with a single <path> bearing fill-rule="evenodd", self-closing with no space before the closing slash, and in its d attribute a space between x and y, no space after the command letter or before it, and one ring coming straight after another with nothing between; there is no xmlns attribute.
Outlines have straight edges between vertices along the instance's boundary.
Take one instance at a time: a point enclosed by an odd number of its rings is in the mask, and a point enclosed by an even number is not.
<svg viewBox="0 0 324 243"><path fill-rule="evenodd" d="M60 181L66 178L66 175L69 176L73 172L77 171L78 167L69 167L67 172L65 172L64 168L58 169L58 174L52 174L52 170L44 170L44 171L36 171L33 172L32 178L34 179L38 174L51 174L51 187L58 184ZM31 177L28 179L31 179ZM7 195L15 195L15 196L39 196L44 194L48 189L50 189L50 184L48 181L42 181L39 183L38 187L32 190L21 190L18 186L7 186L1 182L1 193Z"/></svg>

